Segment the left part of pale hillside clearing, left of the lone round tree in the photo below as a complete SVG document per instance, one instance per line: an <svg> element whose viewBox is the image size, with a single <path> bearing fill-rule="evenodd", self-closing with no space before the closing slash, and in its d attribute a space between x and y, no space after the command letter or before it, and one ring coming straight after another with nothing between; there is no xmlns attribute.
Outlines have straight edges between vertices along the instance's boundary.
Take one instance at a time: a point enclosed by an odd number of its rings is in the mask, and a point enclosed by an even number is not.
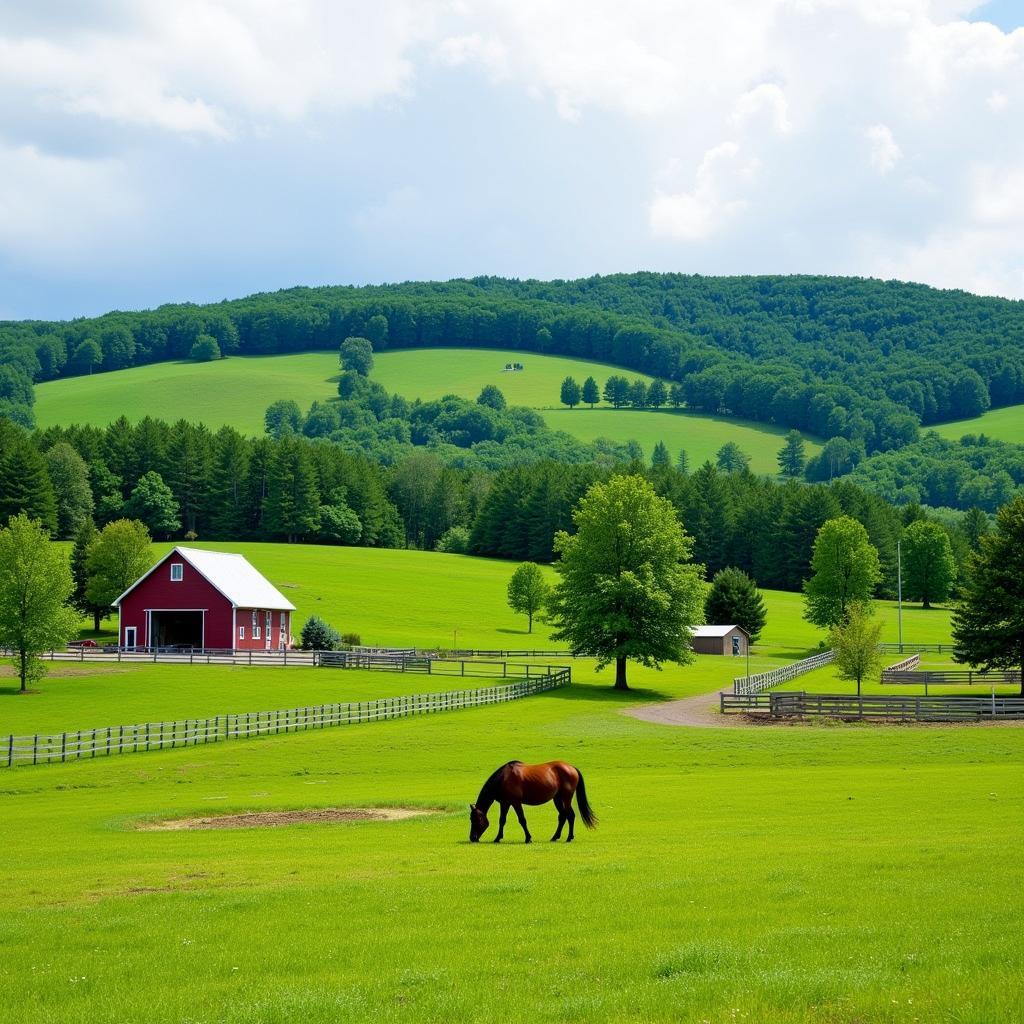
<svg viewBox="0 0 1024 1024"><path fill-rule="evenodd" d="M338 395L338 354L232 355L213 362L155 362L36 386L36 423L106 426L119 416L198 420L213 430L263 433L263 413L278 398L306 410Z"/></svg>

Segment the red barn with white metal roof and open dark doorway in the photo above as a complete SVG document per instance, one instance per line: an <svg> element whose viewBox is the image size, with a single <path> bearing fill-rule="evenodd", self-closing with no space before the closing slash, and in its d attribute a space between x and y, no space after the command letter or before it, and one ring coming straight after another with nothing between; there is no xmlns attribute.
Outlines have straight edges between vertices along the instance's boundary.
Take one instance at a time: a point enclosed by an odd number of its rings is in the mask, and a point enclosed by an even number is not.
<svg viewBox="0 0 1024 1024"><path fill-rule="evenodd" d="M242 555L175 548L115 602L123 647L284 650L295 605Z"/></svg>

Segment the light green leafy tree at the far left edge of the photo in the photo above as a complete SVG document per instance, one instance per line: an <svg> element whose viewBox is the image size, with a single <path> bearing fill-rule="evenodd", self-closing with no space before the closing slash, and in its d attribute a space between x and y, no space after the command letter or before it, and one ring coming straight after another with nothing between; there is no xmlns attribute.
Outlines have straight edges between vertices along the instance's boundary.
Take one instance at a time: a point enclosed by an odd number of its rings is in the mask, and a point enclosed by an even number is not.
<svg viewBox="0 0 1024 1024"><path fill-rule="evenodd" d="M67 555L42 524L11 517L0 529L0 647L13 651L23 693L45 671L39 655L75 635L74 587Z"/></svg>

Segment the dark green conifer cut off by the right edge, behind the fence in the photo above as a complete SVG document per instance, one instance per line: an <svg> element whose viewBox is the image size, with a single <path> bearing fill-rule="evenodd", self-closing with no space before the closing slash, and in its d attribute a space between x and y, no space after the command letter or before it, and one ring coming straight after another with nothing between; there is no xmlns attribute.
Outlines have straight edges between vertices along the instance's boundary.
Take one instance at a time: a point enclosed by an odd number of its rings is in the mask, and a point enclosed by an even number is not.
<svg viewBox="0 0 1024 1024"><path fill-rule="evenodd" d="M995 516L968 561L953 611L953 657L983 669L1019 669L1024 695L1024 498Z"/></svg>

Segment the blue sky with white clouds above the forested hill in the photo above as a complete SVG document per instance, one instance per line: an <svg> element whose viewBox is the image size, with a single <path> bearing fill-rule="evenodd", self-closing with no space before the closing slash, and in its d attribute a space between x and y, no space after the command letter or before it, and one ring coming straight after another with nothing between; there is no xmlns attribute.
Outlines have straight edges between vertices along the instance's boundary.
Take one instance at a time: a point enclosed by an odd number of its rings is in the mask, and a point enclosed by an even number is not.
<svg viewBox="0 0 1024 1024"><path fill-rule="evenodd" d="M0 318L638 269L1024 298L1024 0L0 0Z"/></svg>

